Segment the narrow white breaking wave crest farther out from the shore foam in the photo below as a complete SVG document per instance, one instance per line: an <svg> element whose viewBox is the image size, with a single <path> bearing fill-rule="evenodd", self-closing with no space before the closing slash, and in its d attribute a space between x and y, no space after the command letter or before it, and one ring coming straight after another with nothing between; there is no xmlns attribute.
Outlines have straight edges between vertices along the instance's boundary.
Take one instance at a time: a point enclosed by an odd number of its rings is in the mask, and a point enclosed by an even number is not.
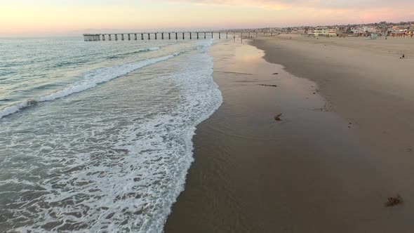
<svg viewBox="0 0 414 233"><path fill-rule="evenodd" d="M149 48L149 49L157 50L159 48ZM161 58L152 58L152 59L143 60L140 62L118 65L116 67L106 67L102 69L96 69L93 72L89 72L88 74L86 74L85 76L86 79L76 82L72 85L69 85L66 88L63 88L62 90L56 91L48 95L42 95L36 98L31 98L29 100L23 100L22 102L18 102L16 104L4 107L4 109L0 109L0 119L9 114L18 112L19 110L24 109L25 107L35 105L38 102L55 100L58 98L65 97L67 95L71 95L73 93L79 93L81 91L88 90L90 88L98 86L98 84L102 84L106 81L110 81L111 79L115 79L119 76L133 72L136 69L140 69L142 67L152 65L156 62L168 60L179 54L180 53L174 53L173 55L167 55Z"/></svg>

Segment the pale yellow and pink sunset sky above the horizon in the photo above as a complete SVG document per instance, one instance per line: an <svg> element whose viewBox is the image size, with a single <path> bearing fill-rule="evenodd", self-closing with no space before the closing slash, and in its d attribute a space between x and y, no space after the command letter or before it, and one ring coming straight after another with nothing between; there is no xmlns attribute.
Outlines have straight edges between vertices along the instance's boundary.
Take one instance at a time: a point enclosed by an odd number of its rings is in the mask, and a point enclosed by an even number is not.
<svg viewBox="0 0 414 233"><path fill-rule="evenodd" d="M0 36L414 21L414 0L0 0Z"/></svg>

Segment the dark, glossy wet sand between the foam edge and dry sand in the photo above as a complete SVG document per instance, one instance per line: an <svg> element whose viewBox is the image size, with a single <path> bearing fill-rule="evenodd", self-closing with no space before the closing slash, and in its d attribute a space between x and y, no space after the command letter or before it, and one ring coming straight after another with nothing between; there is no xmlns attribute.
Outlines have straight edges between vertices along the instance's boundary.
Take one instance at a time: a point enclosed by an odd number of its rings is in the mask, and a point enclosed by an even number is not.
<svg viewBox="0 0 414 233"><path fill-rule="evenodd" d="M224 102L197 127L195 161L165 232L414 229L409 197L384 206L401 190L361 142L359 124L319 95L325 86L253 46L215 44L211 55Z"/></svg>

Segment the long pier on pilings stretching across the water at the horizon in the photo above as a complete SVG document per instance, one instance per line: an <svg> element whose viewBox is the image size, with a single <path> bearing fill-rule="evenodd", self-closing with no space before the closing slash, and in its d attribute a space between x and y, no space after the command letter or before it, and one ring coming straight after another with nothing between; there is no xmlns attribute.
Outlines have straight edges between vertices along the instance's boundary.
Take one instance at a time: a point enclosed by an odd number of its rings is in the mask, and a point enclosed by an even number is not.
<svg viewBox="0 0 414 233"><path fill-rule="evenodd" d="M140 35L140 40L155 39L155 40L164 40L164 39L222 39L225 36L225 39L230 39L240 37L241 39L245 38L254 38L258 36L274 36L280 32L276 31L258 31L256 29L246 29L239 31L203 31L203 32L127 32L127 33L105 33L105 34L84 34L84 41L118 41L121 38L121 41L137 41L138 35ZM179 36L180 35L180 36ZM251 36L253 35L253 36Z"/></svg>

